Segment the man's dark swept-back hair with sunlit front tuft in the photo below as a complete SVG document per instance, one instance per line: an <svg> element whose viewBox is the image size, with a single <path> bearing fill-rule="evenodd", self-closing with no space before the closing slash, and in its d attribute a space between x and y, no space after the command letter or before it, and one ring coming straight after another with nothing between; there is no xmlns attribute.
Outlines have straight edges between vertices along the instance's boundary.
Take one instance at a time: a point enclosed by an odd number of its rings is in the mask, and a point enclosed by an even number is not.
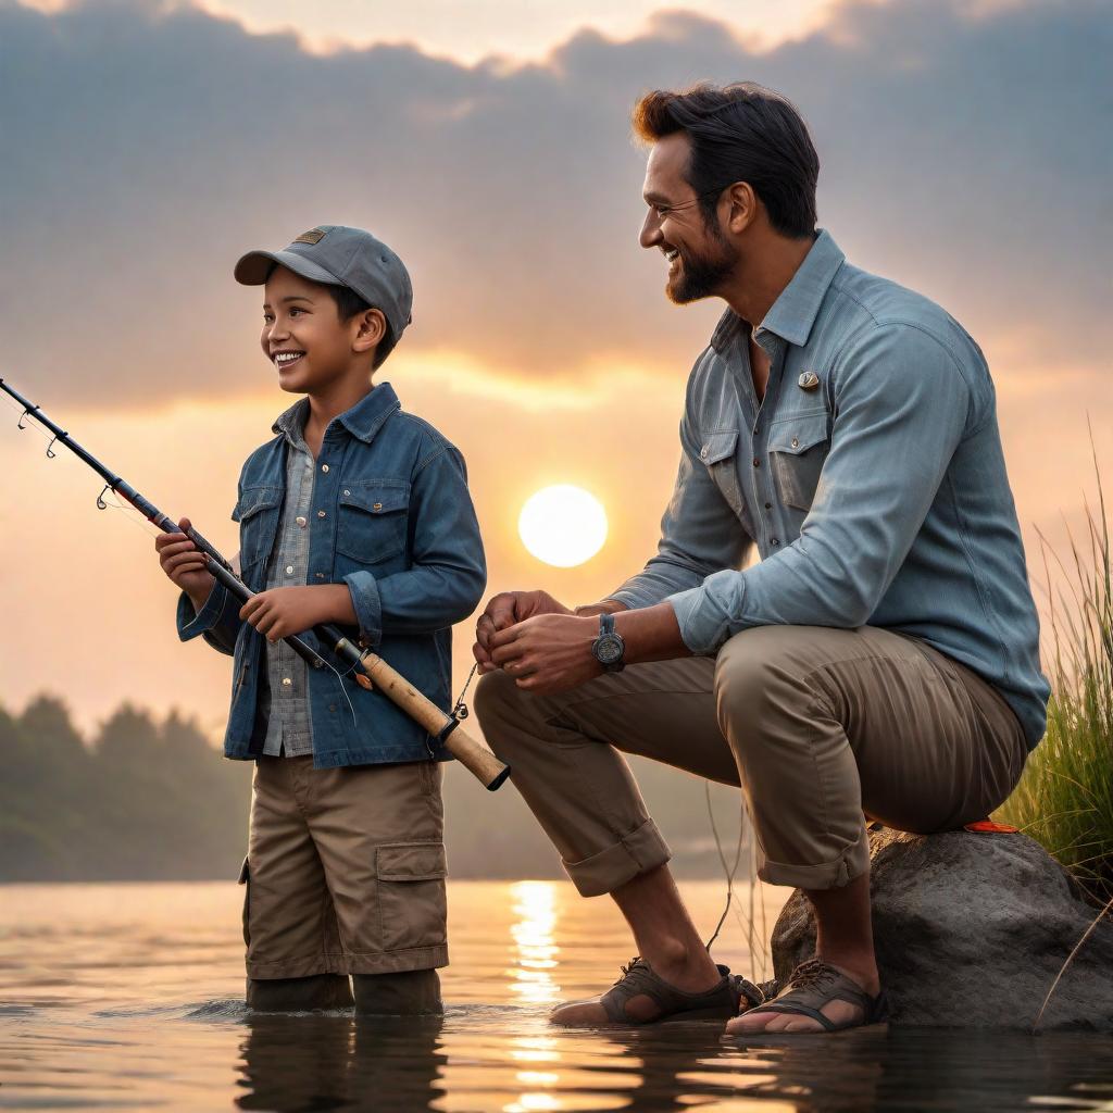
<svg viewBox="0 0 1113 1113"><path fill-rule="evenodd" d="M684 92L647 92L633 110L634 134L657 142L683 131L691 141L684 174L715 225L718 194L748 181L782 236L802 238L816 229L819 156L807 125L779 93L752 81L700 83Z"/></svg>

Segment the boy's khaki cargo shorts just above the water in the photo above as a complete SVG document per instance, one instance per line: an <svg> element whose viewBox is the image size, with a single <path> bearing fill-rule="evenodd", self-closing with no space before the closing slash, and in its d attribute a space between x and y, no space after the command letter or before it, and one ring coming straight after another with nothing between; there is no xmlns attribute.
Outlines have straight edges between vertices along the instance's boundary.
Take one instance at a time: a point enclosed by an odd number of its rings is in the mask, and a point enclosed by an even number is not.
<svg viewBox="0 0 1113 1113"><path fill-rule="evenodd" d="M252 978L449 962L441 767L259 758L240 873Z"/></svg>

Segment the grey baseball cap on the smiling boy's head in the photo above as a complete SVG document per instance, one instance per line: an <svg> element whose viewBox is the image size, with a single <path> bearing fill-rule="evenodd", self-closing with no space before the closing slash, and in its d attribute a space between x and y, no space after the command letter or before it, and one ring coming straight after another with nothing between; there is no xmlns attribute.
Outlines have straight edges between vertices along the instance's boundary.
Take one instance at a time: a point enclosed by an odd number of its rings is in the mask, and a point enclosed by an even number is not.
<svg viewBox="0 0 1113 1113"><path fill-rule="evenodd" d="M413 319L414 292L405 264L363 228L322 224L303 232L280 252L248 252L236 264L236 282L263 286L275 263L309 282L354 289L383 311L395 339Z"/></svg>

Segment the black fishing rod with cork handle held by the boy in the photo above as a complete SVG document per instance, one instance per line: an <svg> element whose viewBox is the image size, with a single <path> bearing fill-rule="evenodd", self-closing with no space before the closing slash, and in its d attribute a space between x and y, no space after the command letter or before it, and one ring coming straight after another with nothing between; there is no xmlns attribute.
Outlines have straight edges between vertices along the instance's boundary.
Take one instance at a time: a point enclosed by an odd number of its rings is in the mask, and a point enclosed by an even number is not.
<svg viewBox="0 0 1113 1113"><path fill-rule="evenodd" d="M61 426L56 425L35 403L28 401L9 383L0 378L0 391L13 397L22 407L19 429L27 429L24 418L30 417L49 430L52 440L47 445L47 455L52 460L56 455L55 444L63 444L79 460L88 464L104 481L105 489L97 495L97 509L107 510L105 494L112 491L125 502L134 506L152 525L164 533L180 533L181 528L168 514L162 513L149 499L144 498L130 483L106 467L92 453L86 451ZM187 536L205 556L206 569L213 578L227 588L242 603L252 599L255 592L232 570L232 565L217 552L216 548L206 541L196 530L190 529ZM351 671L355 682L361 688L371 691L377 688L393 703L397 705L411 719L443 746L462 766L480 780L489 790L494 791L510 776L510 766L503 765L498 757L482 742L459 730L460 719L455 713L442 711L431 699L413 687L401 673L396 672L376 653L371 650L361 651L353 646L347 636L338 627L322 623L313 628L321 642L332 648L333 653ZM315 669L326 664L324 658L304 639L290 634L283 639L295 653ZM342 678L343 682L343 678Z"/></svg>

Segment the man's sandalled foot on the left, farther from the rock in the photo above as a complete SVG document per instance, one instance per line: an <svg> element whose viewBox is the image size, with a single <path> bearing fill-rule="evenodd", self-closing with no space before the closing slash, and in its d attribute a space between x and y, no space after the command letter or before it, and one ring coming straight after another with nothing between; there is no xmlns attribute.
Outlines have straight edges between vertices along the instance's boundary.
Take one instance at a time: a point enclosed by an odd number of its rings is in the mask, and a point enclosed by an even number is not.
<svg viewBox="0 0 1113 1113"><path fill-rule="evenodd" d="M597 1027L608 1024L651 1024L663 1020L733 1016L740 997L739 978L717 966L718 981L693 991L670 985L641 958L622 967L622 976L598 997L559 1005L549 1014L553 1024Z"/></svg>

